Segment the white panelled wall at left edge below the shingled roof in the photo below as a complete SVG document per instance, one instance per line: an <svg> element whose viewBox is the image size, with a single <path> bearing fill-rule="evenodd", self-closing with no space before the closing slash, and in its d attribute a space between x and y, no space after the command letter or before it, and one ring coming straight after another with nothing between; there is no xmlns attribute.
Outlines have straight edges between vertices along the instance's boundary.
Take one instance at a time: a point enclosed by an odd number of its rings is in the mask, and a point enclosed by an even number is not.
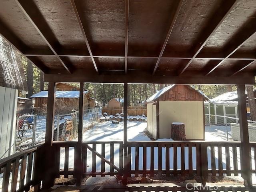
<svg viewBox="0 0 256 192"><path fill-rule="evenodd" d="M0 87L0 159L13 154L18 90Z"/></svg>

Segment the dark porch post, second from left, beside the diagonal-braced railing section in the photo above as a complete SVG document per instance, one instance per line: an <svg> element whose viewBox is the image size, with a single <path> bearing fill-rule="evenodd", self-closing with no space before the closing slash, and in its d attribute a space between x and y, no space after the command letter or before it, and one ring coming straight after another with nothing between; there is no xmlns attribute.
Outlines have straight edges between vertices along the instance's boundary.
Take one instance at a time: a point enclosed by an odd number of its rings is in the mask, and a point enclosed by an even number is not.
<svg viewBox="0 0 256 192"><path fill-rule="evenodd" d="M75 150L75 173L76 185L81 185L81 176L83 174L82 162L82 142L83 142L83 117L84 117L84 83L80 83L79 92L79 114L78 114L78 142Z"/></svg>

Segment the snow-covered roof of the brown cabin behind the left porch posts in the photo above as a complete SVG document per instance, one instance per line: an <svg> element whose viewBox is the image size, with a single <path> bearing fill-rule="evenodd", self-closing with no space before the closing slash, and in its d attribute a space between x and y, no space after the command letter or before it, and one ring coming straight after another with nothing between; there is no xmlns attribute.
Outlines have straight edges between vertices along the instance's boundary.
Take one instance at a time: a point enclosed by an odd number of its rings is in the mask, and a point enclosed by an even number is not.
<svg viewBox="0 0 256 192"><path fill-rule="evenodd" d="M87 94L88 91L84 91ZM40 91L30 98L48 98L48 91ZM79 98L79 91L56 91L56 98Z"/></svg>

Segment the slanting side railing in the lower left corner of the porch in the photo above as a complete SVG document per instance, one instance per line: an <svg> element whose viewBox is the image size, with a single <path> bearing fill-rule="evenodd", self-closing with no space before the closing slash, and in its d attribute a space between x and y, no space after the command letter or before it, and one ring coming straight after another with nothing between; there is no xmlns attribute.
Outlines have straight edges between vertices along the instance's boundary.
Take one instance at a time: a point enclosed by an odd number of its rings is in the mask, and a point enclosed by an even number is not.
<svg viewBox="0 0 256 192"><path fill-rule="evenodd" d="M2 192L23 192L34 186L41 188L42 170L40 165L42 145L37 145L0 160L3 171Z"/></svg>

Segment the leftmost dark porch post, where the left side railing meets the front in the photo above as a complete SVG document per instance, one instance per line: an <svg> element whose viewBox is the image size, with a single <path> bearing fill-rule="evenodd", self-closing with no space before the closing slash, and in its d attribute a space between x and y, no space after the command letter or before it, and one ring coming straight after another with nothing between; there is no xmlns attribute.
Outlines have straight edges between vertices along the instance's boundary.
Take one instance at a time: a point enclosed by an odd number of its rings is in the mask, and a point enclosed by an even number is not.
<svg viewBox="0 0 256 192"><path fill-rule="evenodd" d="M47 112L46 112L46 132L44 142L44 154L45 154L45 168L44 168L44 182L43 189L48 189L54 185L54 150L52 149L53 142L53 128L54 128L54 112L55 112L55 92L56 83L49 82L48 85L48 100L47 100Z"/></svg>

